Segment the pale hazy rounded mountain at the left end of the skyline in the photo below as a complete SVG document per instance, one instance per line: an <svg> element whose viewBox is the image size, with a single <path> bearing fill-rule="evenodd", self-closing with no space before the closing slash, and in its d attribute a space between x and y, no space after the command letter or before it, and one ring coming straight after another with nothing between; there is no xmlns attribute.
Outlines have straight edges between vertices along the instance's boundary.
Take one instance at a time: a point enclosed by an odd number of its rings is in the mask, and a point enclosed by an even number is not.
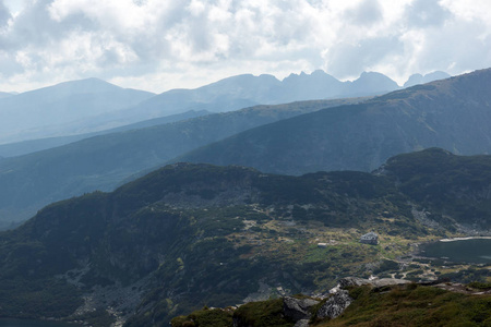
<svg viewBox="0 0 491 327"><path fill-rule="evenodd" d="M113 128L118 125L116 116L113 122L96 117L115 114L152 96L88 78L0 98L0 143Z"/></svg>

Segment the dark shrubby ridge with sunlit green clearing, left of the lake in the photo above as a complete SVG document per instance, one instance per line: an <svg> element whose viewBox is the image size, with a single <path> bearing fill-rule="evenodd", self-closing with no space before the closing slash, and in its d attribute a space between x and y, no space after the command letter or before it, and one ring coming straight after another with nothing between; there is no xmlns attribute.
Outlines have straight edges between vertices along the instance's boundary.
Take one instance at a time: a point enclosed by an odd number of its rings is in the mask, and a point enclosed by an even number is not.
<svg viewBox="0 0 491 327"><path fill-rule="evenodd" d="M421 164L441 167L441 175ZM489 229L489 197L469 198L484 220L453 202L491 185L490 167L491 156L436 148L392 158L385 174L169 165L111 193L51 204L0 233L0 300L10 299L0 315L163 326L203 304L331 289L337 276L423 278L430 272L418 270L429 262L400 270L397 257L407 264L410 244L457 234L463 223ZM426 220L415 215L421 208ZM358 242L368 230L379 245ZM431 267L442 276L465 269ZM489 275L472 271L460 280Z"/></svg>

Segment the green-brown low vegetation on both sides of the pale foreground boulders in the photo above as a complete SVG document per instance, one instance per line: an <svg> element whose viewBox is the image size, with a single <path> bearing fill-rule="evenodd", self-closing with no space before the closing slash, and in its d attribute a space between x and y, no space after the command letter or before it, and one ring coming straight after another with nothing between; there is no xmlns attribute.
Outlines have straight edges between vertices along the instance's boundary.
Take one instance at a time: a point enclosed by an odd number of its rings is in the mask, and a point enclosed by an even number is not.
<svg viewBox="0 0 491 327"><path fill-rule="evenodd" d="M470 284L468 286L470 287ZM488 286L489 287L489 286ZM334 319L318 318L316 310L325 301L312 310L310 326L489 326L491 324L491 294L471 295L456 293L435 287L407 286L373 289L350 287L349 295L354 299L346 311ZM295 322L288 320L284 314L283 299L251 302L239 308L215 308L213 320L209 314L202 325L197 311L189 316L172 319L172 327L184 326L231 326L220 325L233 318L238 327L291 327ZM214 325L215 324L215 325Z"/></svg>

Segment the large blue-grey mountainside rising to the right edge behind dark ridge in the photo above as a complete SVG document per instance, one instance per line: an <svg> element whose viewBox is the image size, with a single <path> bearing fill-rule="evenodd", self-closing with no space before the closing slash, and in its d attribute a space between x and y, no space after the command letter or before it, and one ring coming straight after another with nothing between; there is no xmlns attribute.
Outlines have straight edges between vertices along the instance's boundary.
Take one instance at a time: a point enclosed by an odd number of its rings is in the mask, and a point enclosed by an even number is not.
<svg viewBox="0 0 491 327"><path fill-rule="evenodd" d="M491 69L396 90L244 131L175 161L262 171L371 171L391 156L428 147L491 153Z"/></svg>

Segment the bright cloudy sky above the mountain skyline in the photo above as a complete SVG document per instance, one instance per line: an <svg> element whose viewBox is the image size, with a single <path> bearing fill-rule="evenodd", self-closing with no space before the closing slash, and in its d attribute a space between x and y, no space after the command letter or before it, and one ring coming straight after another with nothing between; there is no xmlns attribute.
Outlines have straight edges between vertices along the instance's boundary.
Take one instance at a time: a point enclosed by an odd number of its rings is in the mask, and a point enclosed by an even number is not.
<svg viewBox="0 0 491 327"><path fill-rule="evenodd" d="M491 66L489 0L0 0L0 92L98 77L161 93L251 73Z"/></svg>

